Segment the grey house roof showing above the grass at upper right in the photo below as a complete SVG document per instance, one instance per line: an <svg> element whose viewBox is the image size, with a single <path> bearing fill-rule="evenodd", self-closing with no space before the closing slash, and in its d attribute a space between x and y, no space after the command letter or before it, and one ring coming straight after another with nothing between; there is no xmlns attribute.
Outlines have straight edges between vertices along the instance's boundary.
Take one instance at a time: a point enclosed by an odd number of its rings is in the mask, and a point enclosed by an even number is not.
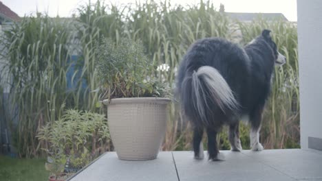
<svg viewBox="0 0 322 181"><path fill-rule="evenodd" d="M253 12L225 12L231 19L237 19L238 21L253 21L258 17L262 17L268 20L281 19L288 21L286 17L281 13L253 13Z"/></svg>

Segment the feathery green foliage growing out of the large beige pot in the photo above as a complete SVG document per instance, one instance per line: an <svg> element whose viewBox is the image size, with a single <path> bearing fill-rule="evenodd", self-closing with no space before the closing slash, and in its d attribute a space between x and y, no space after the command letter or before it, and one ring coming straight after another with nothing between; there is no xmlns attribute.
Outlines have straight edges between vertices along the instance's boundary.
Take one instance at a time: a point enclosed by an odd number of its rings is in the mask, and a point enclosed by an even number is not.
<svg viewBox="0 0 322 181"><path fill-rule="evenodd" d="M153 74L154 66L144 54L142 43L125 38L115 45L104 38L97 43L96 58L101 98L169 95L169 85Z"/></svg>

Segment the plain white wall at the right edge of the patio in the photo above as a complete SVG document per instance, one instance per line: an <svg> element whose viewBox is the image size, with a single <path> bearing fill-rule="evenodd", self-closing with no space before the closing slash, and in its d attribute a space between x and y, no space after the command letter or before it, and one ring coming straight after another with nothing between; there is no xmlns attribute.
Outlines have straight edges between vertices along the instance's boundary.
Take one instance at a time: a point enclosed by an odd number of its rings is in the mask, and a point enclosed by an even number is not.
<svg viewBox="0 0 322 181"><path fill-rule="evenodd" d="M322 0L297 0L301 148L322 147ZM318 141L319 142L319 141Z"/></svg>

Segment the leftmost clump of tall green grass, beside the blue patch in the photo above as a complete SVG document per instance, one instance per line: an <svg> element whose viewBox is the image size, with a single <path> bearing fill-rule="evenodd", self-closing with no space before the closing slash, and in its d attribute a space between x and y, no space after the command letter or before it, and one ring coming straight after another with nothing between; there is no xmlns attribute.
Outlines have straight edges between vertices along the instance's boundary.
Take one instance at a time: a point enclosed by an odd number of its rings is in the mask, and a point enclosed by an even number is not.
<svg viewBox="0 0 322 181"><path fill-rule="evenodd" d="M1 39L1 58L8 60L12 78L10 110L18 110L11 117L19 122L11 128L19 156L39 154L37 128L54 120L67 99L68 38L64 21L37 14L12 25Z"/></svg>

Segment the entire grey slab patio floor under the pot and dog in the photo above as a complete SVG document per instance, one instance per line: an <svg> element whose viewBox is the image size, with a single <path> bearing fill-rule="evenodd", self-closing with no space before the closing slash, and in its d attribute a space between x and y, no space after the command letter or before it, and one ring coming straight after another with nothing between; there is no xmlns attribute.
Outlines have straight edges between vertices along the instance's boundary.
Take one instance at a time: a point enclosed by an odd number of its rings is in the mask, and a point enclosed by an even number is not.
<svg viewBox="0 0 322 181"><path fill-rule="evenodd" d="M160 152L155 160L125 161L115 152L107 152L69 180L322 181L320 151L265 149L221 154L225 160L217 162L195 160L193 152Z"/></svg>

